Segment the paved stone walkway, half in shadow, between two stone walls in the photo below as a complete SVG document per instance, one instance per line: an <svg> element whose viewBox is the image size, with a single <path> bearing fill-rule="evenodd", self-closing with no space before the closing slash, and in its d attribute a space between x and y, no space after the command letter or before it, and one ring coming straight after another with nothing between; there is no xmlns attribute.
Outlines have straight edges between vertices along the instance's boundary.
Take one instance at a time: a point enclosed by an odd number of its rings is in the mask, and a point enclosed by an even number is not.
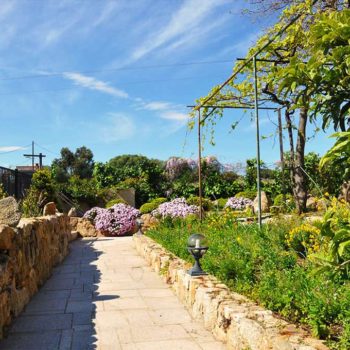
<svg viewBox="0 0 350 350"><path fill-rule="evenodd" d="M0 349L221 350L131 237L77 240Z"/></svg>

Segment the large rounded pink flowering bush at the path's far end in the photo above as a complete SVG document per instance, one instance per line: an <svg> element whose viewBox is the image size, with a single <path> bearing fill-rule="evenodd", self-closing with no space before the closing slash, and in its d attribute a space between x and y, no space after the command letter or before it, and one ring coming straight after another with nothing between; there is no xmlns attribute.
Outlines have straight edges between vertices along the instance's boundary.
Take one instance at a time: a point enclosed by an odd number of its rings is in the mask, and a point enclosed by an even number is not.
<svg viewBox="0 0 350 350"><path fill-rule="evenodd" d="M130 205L119 203L108 209L92 208L84 215L95 228L112 236L121 236L135 228L140 211Z"/></svg>

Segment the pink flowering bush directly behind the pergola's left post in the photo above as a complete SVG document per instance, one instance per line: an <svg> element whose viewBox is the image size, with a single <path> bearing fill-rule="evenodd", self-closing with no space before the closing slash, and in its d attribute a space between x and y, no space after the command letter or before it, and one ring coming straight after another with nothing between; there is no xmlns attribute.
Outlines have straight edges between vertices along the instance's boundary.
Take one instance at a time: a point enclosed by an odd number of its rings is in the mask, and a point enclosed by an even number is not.
<svg viewBox="0 0 350 350"><path fill-rule="evenodd" d="M185 218L190 214L198 214L199 207L196 205L188 205L185 198L176 198L171 202L161 204L157 209L152 211L153 216L162 218Z"/></svg>

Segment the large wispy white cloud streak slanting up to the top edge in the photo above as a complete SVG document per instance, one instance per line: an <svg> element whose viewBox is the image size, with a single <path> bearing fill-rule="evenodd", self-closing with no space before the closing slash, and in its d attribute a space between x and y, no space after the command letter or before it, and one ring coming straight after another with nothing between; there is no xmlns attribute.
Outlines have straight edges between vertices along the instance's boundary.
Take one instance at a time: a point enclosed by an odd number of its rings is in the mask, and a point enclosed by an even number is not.
<svg viewBox="0 0 350 350"><path fill-rule="evenodd" d="M156 33L152 33L143 44L133 51L131 59L138 60L162 45L168 44L173 40L179 40L182 36L186 37L188 33L193 32L205 22L205 19L213 13L215 7L224 2L226 1L185 1L164 28L161 28ZM204 27L202 29L204 30ZM181 40L181 44L183 44L183 40L191 41L193 37L192 35L187 36L187 39Z"/></svg>

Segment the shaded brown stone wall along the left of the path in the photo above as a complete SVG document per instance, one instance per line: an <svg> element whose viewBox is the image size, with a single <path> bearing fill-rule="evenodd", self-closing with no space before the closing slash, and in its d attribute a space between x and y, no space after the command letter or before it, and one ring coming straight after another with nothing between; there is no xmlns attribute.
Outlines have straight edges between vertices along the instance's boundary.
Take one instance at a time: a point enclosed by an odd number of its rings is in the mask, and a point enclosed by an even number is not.
<svg viewBox="0 0 350 350"><path fill-rule="evenodd" d="M69 218L58 214L0 225L0 339L68 254Z"/></svg>

